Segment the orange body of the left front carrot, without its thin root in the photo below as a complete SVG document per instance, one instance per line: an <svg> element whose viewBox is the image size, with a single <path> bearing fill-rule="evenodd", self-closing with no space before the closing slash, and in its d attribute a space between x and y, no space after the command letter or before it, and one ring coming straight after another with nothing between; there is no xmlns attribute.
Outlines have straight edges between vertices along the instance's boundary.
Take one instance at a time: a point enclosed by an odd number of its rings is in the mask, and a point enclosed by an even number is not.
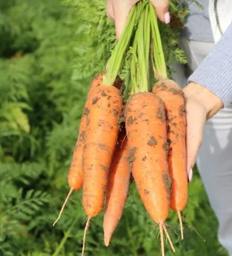
<svg viewBox="0 0 232 256"><path fill-rule="evenodd" d="M98 101L89 107L82 154L82 204L91 218L101 212L105 202L108 172L119 134L118 119L122 109L121 93L115 86L99 85L92 91L90 100L92 102L97 98Z"/></svg>

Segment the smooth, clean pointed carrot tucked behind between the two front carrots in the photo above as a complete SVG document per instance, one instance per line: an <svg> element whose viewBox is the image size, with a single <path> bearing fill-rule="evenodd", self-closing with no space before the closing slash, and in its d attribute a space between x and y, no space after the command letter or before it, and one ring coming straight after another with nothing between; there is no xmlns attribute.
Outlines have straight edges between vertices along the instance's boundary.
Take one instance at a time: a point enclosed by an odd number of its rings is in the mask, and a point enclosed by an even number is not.
<svg viewBox="0 0 232 256"><path fill-rule="evenodd" d="M127 137L123 129L118 138L117 147L113 154L112 166L108 177L105 215L103 221L105 245L108 246L110 238L117 227L129 192L131 172L127 162Z"/></svg>

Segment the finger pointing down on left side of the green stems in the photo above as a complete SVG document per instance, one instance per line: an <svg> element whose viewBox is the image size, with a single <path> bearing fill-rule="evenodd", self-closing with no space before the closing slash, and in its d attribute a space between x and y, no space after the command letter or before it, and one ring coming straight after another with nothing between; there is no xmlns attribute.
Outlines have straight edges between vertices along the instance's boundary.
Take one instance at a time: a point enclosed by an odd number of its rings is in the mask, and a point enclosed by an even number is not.
<svg viewBox="0 0 232 256"><path fill-rule="evenodd" d="M127 1L118 0L117 4L115 3L113 6L114 9L114 19L115 19L115 31L116 38L119 40L122 35L122 31L126 25L128 14L133 7L134 4L138 3L140 0Z"/></svg>

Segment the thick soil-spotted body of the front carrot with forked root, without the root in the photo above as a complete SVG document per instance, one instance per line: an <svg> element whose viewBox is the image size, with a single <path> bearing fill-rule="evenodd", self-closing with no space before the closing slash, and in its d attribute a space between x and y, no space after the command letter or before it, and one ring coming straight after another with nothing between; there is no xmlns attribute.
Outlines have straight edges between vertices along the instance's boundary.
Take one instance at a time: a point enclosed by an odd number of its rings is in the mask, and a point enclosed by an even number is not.
<svg viewBox="0 0 232 256"><path fill-rule="evenodd" d="M137 118L133 124L129 122L130 116ZM127 103L125 117L127 161L136 187L152 219L163 225L168 218L171 190L168 152L163 147L167 141L163 102L153 93L136 93Z"/></svg>

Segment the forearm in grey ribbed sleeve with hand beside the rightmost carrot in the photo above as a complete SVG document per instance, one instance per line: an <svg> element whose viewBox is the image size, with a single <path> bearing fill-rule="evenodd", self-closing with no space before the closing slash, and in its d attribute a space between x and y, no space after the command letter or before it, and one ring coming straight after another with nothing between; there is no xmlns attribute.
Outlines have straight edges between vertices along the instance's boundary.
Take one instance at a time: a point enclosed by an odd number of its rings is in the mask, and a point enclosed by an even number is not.
<svg viewBox="0 0 232 256"><path fill-rule="evenodd" d="M232 98L232 24L207 58L189 77L185 86L187 118L187 170L189 181L203 140L207 119L214 116Z"/></svg>

